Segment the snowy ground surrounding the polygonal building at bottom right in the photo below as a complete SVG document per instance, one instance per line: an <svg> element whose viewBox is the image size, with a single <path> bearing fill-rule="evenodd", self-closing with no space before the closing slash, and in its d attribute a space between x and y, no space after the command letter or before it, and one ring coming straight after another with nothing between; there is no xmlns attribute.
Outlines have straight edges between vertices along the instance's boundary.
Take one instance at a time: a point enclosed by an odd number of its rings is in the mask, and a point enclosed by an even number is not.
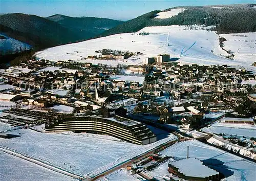
<svg viewBox="0 0 256 181"><path fill-rule="evenodd" d="M224 162L224 166L226 166L227 169L233 172L233 175L230 175L224 180L255 180L255 163L196 140L176 143L160 153L168 156L175 156L177 157L177 159L185 158L187 146L189 146L189 157L196 157L201 161L208 159L218 159ZM168 175L167 168L168 162L160 165L153 171L148 172L148 174L156 177L159 180L163 180L163 176Z"/></svg>

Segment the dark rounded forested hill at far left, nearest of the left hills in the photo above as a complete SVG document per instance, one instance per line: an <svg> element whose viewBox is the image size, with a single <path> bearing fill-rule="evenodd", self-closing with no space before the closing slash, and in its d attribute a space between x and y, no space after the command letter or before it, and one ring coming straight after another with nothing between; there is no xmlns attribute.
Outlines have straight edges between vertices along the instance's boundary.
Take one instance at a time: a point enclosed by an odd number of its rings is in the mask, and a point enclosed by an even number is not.
<svg viewBox="0 0 256 181"><path fill-rule="evenodd" d="M0 25L2 25L0 30L2 33L26 42L35 49L54 47L83 39L58 23L35 15L4 14L0 16ZM11 29L12 32L7 29Z"/></svg>

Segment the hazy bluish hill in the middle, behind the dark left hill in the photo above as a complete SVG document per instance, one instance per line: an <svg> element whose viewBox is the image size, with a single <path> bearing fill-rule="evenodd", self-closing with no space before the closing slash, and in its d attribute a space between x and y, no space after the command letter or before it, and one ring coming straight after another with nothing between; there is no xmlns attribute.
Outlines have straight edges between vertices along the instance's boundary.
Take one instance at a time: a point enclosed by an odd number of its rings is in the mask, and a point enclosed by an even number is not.
<svg viewBox="0 0 256 181"><path fill-rule="evenodd" d="M49 16L47 19L58 22L58 24L72 30L76 34L79 34L84 39L93 38L96 35L99 35L104 31L123 23L123 21L114 19L96 17L69 17L60 14Z"/></svg>

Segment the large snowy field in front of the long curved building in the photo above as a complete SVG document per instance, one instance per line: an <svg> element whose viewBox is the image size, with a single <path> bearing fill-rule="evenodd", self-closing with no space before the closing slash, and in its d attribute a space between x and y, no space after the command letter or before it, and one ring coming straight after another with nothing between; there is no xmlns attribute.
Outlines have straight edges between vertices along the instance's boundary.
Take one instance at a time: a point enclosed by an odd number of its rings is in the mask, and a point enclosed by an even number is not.
<svg viewBox="0 0 256 181"><path fill-rule="evenodd" d="M29 129L10 131L10 133L16 134L18 132L22 137L9 140L0 139L0 145L79 175L98 174L176 138L175 135L170 134L168 138L150 145L140 146L123 141L40 133Z"/></svg>

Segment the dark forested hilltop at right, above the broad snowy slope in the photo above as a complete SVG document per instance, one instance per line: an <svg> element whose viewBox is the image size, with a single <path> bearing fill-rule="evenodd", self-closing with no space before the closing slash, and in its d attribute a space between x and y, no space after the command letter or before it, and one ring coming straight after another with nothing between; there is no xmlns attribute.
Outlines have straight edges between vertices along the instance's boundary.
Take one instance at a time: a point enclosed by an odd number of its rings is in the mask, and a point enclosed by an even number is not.
<svg viewBox="0 0 256 181"><path fill-rule="evenodd" d="M170 25L216 26L219 33L243 33L256 31L256 5L182 6L182 13L170 18L154 18L160 11L152 11L105 31L100 36L136 32L144 27Z"/></svg>

